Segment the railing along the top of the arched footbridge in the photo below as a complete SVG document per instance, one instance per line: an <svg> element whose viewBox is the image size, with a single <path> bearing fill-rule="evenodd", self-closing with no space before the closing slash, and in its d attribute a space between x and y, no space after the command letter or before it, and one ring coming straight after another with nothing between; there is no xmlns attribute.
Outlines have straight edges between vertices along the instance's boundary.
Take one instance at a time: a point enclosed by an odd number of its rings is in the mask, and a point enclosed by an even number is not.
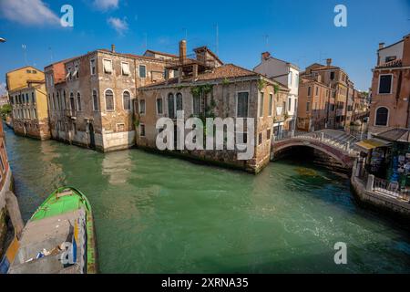
<svg viewBox="0 0 410 292"><path fill-rule="evenodd" d="M343 138L342 138L343 136ZM347 141L346 139L349 138ZM312 141L320 141L323 144L338 148L342 151L347 152L350 155L356 154L354 151L354 143L357 141L353 136L341 135L340 137L335 137L329 135L323 131L317 132L305 132L305 131L282 131L279 135L276 135L273 142L290 140L290 139L304 139Z"/></svg>

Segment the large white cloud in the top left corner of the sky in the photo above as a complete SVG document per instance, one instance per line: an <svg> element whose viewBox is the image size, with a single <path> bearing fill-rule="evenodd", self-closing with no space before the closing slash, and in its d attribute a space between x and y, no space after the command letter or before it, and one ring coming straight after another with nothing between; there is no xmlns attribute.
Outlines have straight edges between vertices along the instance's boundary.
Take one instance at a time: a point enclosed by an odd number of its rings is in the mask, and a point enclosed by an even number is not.
<svg viewBox="0 0 410 292"><path fill-rule="evenodd" d="M41 0L0 0L1 15L23 25L59 24L60 18Z"/></svg>

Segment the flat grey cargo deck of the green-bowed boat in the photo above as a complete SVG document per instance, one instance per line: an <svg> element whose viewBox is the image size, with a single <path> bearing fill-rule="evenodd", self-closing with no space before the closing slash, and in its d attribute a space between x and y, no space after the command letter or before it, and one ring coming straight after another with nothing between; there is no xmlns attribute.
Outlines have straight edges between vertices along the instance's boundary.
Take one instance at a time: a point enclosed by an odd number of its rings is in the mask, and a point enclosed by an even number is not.
<svg viewBox="0 0 410 292"><path fill-rule="evenodd" d="M19 242L20 248L9 274L81 274L84 268L86 213L79 209L67 214L29 221ZM64 265L61 261L63 243L76 238L76 264ZM46 250L44 252L44 250ZM38 253L45 256L36 259Z"/></svg>

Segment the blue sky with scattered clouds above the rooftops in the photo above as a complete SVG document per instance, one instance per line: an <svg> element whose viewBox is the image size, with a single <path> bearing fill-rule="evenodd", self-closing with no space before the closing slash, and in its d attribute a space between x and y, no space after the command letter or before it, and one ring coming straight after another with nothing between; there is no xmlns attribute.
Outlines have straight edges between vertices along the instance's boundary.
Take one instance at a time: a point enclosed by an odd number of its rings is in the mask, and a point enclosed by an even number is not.
<svg viewBox="0 0 410 292"><path fill-rule="evenodd" d="M62 5L74 8L74 27L59 25ZM333 25L334 6L347 7L347 27ZM410 0L0 0L0 83L5 72L115 44L118 52L150 49L177 53L203 45L226 63L253 68L262 51L305 68L333 58L357 89L368 89L379 42L394 43L410 33Z"/></svg>

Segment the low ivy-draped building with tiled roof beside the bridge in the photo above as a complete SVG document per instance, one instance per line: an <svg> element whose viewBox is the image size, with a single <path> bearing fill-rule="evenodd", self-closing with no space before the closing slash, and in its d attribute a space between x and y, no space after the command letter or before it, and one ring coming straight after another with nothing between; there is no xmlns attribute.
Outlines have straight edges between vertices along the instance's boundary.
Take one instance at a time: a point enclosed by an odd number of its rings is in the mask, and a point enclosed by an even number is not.
<svg viewBox="0 0 410 292"><path fill-rule="evenodd" d="M207 47L194 52L192 57L187 56L186 42L182 41L179 59L167 63L169 70L178 70L178 77L138 89L137 145L157 150L157 121L165 117L176 122L179 110L184 110L185 120L190 117L253 118L253 137L248 136L247 130L239 132L235 129L241 141L254 141L251 146L254 154L250 160L238 160L238 149L178 152L249 172L261 171L270 162L275 120L285 120L282 107L286 107L289 89L256 72L232 64L224 65Z"/></svg>

